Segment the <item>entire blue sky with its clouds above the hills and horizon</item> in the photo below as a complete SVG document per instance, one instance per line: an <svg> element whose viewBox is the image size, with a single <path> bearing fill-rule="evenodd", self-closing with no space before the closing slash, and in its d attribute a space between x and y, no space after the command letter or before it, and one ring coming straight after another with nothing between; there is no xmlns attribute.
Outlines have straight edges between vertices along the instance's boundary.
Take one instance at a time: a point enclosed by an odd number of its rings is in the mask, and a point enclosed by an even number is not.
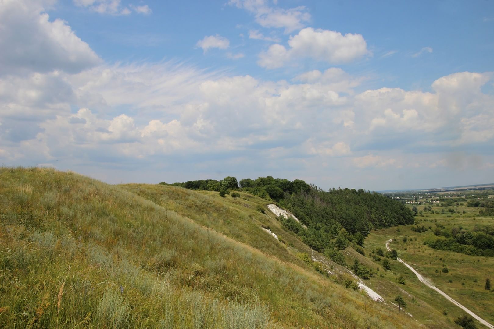
<svg viewBox="0 0 494 329"><path fill-rule="evenodd" d="M109 183L494 179L492 1L0 0L0 161Z"/></svg>

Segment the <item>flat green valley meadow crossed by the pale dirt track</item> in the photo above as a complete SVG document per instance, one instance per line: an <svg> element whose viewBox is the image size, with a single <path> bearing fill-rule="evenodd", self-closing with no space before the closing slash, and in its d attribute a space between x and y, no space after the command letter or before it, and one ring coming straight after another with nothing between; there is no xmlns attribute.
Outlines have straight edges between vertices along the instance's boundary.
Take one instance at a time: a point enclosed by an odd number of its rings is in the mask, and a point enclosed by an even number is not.
<svg viewBox="0 0 494 329"><path fill-rule="evenodd" d="M423 210L424 205L417 205L416 207L418 210ZM494 224L492 216L478 215L479 208L466 207L464 205L455 208L460 213L464 210L465 214L456 213L451 215L439 212L435 214L424 212L423 216L416 216L415 221L420 226L431 226L432 229L436 227L436 224L443 224L450 229L453 226L473 229L476 224ZM435 206L434 210L437 211L437 209L440 211L441 207ZM494 257L468 256L451 251L434 250L423 244L424 240L430 236L434 236L431 230L417 233L412 231L411 226L392 227L371 231L371 234L366 238L365 246L368 252L378 247L385 250L385 241L395 238L390 244L390 248L396 249L399 257L411 264L421 275L463 306L486 321L494 323L494 291L484 289L485 279L491 278L491 282L494 279ZM403 241L404 237L407 237L407 242ZM380 265L379 262L371 260L370 257L367 258L374 263L374 266ZM453 323L454 319L465 314L439 293L420 283L415 275L403 264L396 260L392 260L391 263L391 270L387 272L387 275L403 276L406 284L399 286L406 293L414 296L420 303L427 302L434 309L433 312L442 313L440 317L443 318L443 321ZM443 267L448 268L448 273L442 272ZM450 280L452 282L449 282ZM407 301L410 301L410 298ZM410 305L411 303L409 302ZM477 327L485 328L479 323Z"/></svg>

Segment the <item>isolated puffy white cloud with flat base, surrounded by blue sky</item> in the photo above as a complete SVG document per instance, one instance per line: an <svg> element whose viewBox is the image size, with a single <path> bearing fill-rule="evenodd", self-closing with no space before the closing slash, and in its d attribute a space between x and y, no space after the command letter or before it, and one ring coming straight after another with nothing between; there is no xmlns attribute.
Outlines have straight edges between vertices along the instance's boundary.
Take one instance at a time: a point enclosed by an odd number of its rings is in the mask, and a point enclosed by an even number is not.
<svg viewBox="0 0 494 329"><path fill-rule="evenodd" d="M287 49L281 44L271 45L259 54L257 64L267 69L284 66L297 58L311 58L331 64L348 63L369 54L367 42L360 34L305 28L290 37Z"/></svg>

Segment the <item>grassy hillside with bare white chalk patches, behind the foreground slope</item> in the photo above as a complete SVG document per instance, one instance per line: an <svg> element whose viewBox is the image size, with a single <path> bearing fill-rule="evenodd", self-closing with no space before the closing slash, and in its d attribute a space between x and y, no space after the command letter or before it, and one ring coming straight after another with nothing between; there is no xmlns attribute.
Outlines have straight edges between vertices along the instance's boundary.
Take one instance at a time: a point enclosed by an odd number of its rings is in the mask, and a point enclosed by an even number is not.
<svg viewBox="0 0 494 329"><path fill-rule="evenodd" d="M306 253L323 260L335 269L341 269L323 254L317 253L303 244L299 237L284 227L274 214L269 211L266 211L266 214L256 211L256 205L268 203L265 199L243 192L240 192L240 198L232 198L229 195L222 198L217 192L193 191L159 184L128 184L122 185L122 187L284 261L307 267L297 257L299 253ZM270 227L283 243L277 242L269 234L262 231L262 226ZM376 231L371 233L372 237L374 232ZM390 236L387 239L393 237L395 232L396 227L389 229ZM363 247L366 256L357 253L353 248L342 251L349 265L358 259L361 264L374 271L375 275L371 280L365 280L365 284L383 296L390 307L392 307L390 301L393 301L397 295L404 296L408 303L407 311L413 315L413 319L420 324L426 324L428 328L456 328L451 317L443 315L442 305L437 302L437 298L412 294L403 289L405 286L397 283L399 276L404 275L407 279L407 288L413 285L418 292L424 290L423 285L416 280L412 273L407 272L406 268L402 272L384 271L380 262L373 261L371 250L374 248L374 244L368 240L366 239ZM391 260L391 262L393 269L395 269L394 264L398 264L398 262L395 260ZM335 270L333 272L337 273ZM338 278L331 276L331 280L339 282L343 282L344 279L341 276Z"/></svg>

